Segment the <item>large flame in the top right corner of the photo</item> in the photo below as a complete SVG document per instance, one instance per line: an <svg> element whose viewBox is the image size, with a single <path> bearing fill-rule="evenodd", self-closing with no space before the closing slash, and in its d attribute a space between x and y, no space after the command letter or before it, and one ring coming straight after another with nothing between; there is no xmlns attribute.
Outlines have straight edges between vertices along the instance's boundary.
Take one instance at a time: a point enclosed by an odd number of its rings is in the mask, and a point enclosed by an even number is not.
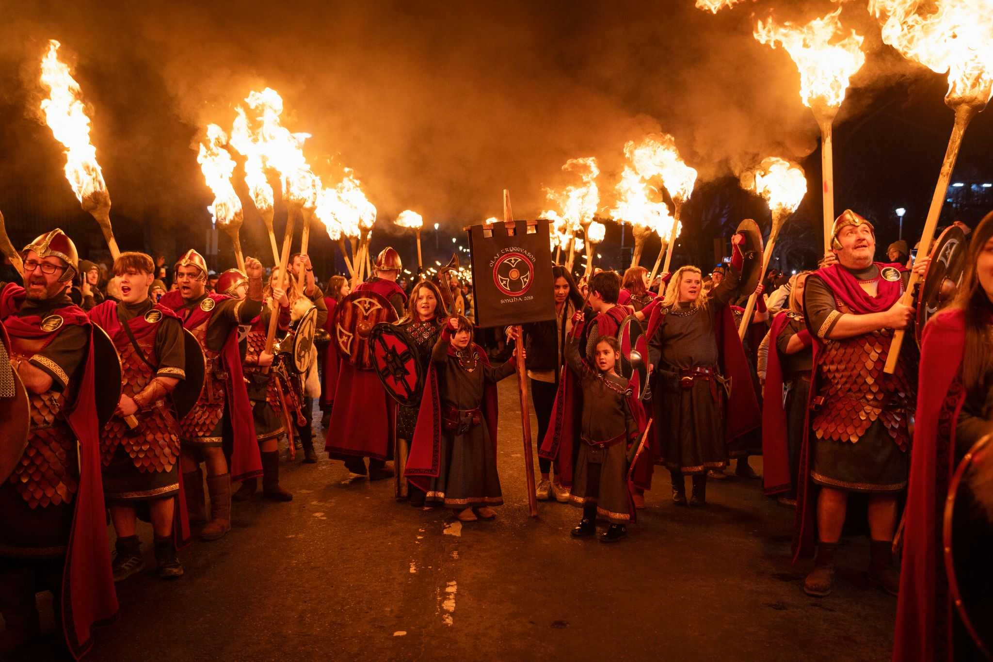
<svg viewBox="0 0 993 662"><path fill-rule="evenodd" d="M883 42L936 73L945 100L985 106L993 96L993 4L989 0L870 0Z"/></svg>

